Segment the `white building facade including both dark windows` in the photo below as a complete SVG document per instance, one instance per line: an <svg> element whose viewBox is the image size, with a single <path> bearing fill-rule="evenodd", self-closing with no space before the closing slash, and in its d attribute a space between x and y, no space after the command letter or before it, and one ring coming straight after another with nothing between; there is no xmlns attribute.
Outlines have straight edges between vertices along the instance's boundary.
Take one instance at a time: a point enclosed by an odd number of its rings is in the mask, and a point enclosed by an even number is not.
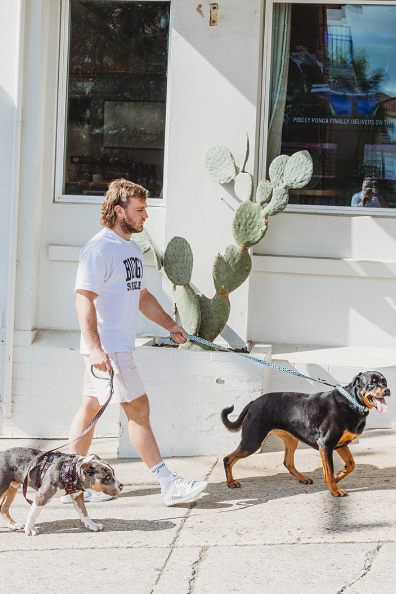
<svg viewBox="0 0 396 594"><path fill-rule="evenodd" d="M188 239L192 284L213 295L213 260L234 243L239 199L208 175L205 151L224 144L239 166L246 133L255 184L278 154L308 150L314 170L251 249L252 273L230 296L220 340L272 345L274 361L334 383L377 368L392 390L396 2L0 6L2 435L68 433L83 375L78 252L100 229L112 179L149 189L154 245ZM172 311L151 252L144 264ZM144 318L138 333L163 336ZM274 390L299 385L271 377ZM110 412L99 434L117 422ZM390 405L368 426L395 424Z"/></svg>

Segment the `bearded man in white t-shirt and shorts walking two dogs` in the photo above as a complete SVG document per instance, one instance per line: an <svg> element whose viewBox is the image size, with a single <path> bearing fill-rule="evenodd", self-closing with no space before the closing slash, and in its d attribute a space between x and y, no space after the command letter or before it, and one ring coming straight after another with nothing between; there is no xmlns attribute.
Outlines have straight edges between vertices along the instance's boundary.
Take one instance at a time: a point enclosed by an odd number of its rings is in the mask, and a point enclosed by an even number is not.
<svg viewBox="0 0 396 594"><path fill-rule="evenodd" d="M83 399L72 421L70 441L78 438L108 397L109 384L94 377L98 372L114 371L111 402L119 402L128 418L132 445L156 476L166 505L195 501L206 488L206 481L190 481L171 473L150 426L150 406L134 362L138 310L169 333L176 343L186 339L184 328L175 324L147 290L142 253L131 239L140 233L148 215L147 190L140 185L116 179L104 195L103 229L81 249L75 292L81 328L81 353L85 359ZM96 375L96 374L95 374ZM100 375L100 374L99 374ZM102 374L103 375L103 374ZM72 447L73 453L88 453L94 428ZM85 494L87 501L103 501L105 494ZM68 503L68 496L62 498Z"/></svg>

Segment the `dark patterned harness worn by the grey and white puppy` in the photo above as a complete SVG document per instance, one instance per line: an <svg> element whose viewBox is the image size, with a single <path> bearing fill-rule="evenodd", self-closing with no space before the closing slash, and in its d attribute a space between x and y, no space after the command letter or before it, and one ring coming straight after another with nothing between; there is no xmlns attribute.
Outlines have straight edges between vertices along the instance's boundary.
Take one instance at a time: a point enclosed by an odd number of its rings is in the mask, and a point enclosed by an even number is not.
<svg viewBox="0 0 396 594"><path fill-rule="evenodd" d="M45 452L31 463L26 473L25 479L23 481L22 492L27 503L30 503L30 505L31 503L33 503L26 496L27 478L31 470L39 466L39 470L37 470L36 476L36 489L39 489L42 485L45 473L49 469L50 465L52 465L53 461L56 458L59 458L59 456L65 455L67 455L67 458L65 462L62 464L61 472L59 473L59 478L61 480L62 487L65 489L66 495L71 495L72 493L77 493L78 491L84 491L84 489L80 485L80 482L78 481L77 476L77 462L78 460L81 460L81 456L79 456L78 454L62 454L62 452L60 451Z"/></svg>

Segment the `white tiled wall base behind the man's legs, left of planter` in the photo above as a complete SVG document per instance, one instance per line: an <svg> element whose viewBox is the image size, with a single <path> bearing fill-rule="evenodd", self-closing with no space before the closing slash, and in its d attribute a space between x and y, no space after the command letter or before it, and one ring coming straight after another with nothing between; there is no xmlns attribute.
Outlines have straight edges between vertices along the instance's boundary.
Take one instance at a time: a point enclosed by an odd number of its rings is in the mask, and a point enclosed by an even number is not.
<svg viewBox="0 0 396 594"><path fill-rule="evenodd" d="M84 362L79 342L80 333L72 331L41 331L33 344L30 338L24 340L22 333L18 336L12 416L2 418L3 437L59 437L67 441L83 387ZM118 433L118 408L107 407L97 423L97 437Z"/></svg>

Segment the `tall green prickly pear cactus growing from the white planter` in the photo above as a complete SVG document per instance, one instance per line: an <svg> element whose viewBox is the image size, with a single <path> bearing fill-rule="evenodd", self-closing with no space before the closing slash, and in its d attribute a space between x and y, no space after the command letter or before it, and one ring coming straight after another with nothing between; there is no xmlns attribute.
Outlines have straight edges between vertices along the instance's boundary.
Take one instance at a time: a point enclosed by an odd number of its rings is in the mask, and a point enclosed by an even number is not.
<svg viewBox="0 0 396 594"><path fill-rule="evenodd" d="M195 293L191 275L193 257L191 247L182 237L174 237L167 245L160 264L173 286L180 321L189 334L211 342L216 339L230 315L229 293L237 289L249 276L252 260L249 248L264 237L268 229L268 217L280 213L289 201L290 188L302 188L312 176L312 159L308 151L294 153L291 157L280 155L269 168L270 180L259 182L255 202L253 178L245 171L249 157L249 138L246 135L246 149L242 167L238 171L232 153L221 144L207 150L205 163L208 172L220 184L234 181L234 191L242 202L233 219L233 236L236 245L227 245L223 255L217 254L213 264L213 282L216 293L213 298ZM135 239L135 236L134 236ZM137 234L142 251L153 249L150 237ZM144 248L144 249L143 249ZM155 256L154 256L155 257ZM160 266L157 266L161 270ZM196 342L179 345L180 349L202 350L210 347Z"/></svg>

